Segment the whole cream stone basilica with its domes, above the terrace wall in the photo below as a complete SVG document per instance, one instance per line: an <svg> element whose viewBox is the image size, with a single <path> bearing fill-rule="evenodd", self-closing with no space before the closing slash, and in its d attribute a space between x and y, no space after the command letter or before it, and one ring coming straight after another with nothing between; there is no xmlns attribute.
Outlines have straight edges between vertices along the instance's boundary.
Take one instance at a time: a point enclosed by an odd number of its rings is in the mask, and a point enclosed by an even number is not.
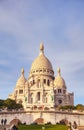
<svg viewBox="0 0 84 130"><path fill-rule="evenodd" d="M54 75L52 64L44 54L42 43L40 44L40 53L31 65L28 79L25 78L22 68L14 92L8 98L21 103L25 110L74 105L74 93L67 91L60 68L57 68L57 75Z"/></svg>

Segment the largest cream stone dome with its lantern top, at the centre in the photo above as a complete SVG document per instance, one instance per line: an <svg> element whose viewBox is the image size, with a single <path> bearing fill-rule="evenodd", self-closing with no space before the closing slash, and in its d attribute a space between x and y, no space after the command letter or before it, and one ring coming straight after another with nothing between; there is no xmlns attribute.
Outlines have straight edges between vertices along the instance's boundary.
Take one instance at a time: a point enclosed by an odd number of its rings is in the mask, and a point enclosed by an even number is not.
<svg viewBox="0 0 84 130"><path fill-rule="evenodd" d="M40 54L39 56L33 61L31 65L30 74L37 74L37 72L43 73L43 71L50 72L51 74L54 74L53 67L51 62L48 60L48 58L44 55L44 46L41 43L40 44Z"/></svg>

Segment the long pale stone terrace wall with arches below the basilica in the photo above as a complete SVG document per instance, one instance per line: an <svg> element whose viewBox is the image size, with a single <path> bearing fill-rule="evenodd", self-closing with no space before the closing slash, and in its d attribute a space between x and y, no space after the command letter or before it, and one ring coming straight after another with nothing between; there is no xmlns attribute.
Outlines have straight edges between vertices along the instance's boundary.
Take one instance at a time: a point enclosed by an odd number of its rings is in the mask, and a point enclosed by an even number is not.
<svg viewBox="0 0 84 130"><path fill-rule="evenodd" d="M79 126L84 126L84 114L79 113L67 113L67 112L55 112L55 111L28 111L25 113L0 113L0 123L1 119L7 119L7 124L13 119L19 119L22 123L27 124L33 123L36 119L43 118L45 123L51 122L56 124L62 119L67 119L70 122L76 122Z"/></svg>

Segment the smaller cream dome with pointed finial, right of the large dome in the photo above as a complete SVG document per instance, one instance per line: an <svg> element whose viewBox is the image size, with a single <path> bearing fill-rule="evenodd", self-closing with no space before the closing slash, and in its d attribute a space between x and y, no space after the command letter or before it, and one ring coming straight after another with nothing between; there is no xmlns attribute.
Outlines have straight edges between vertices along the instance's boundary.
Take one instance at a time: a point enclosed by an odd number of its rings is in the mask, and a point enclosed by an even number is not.
<svg viewBox="0 0 84 130"><path fill-rule="evenodd" d="M54 80L54 86L57 87L57 88L66 88L66 84L65 84L65 81L64 79L61 77L61 74L60 74L60 68L57 69L57 76Z"/></svg>

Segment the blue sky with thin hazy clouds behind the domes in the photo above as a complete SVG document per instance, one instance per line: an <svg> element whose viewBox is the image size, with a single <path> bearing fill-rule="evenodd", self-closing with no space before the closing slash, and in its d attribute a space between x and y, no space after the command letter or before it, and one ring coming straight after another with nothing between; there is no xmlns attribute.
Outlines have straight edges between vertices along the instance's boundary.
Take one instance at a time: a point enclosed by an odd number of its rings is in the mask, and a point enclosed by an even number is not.
<svg viewBox="0 0 84 130"><path fill-rule="evenodd" d="M84 0L0 0L0 99L8 98L43 42L74 104L84 104Z"/></svg>

